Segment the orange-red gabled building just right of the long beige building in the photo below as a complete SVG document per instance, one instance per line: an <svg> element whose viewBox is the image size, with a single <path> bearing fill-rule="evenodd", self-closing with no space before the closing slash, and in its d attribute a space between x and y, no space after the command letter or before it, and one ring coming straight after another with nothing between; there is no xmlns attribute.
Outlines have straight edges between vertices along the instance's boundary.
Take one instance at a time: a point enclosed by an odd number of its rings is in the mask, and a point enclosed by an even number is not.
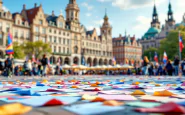
<svg viewBox="0 0 185 115"><path fill-rule="evenodd" d="M130 37L125 34L113 38L113 55L116 63L123 64L139 64L142 56L142 46L136 40L135 36Z"/></svg>

